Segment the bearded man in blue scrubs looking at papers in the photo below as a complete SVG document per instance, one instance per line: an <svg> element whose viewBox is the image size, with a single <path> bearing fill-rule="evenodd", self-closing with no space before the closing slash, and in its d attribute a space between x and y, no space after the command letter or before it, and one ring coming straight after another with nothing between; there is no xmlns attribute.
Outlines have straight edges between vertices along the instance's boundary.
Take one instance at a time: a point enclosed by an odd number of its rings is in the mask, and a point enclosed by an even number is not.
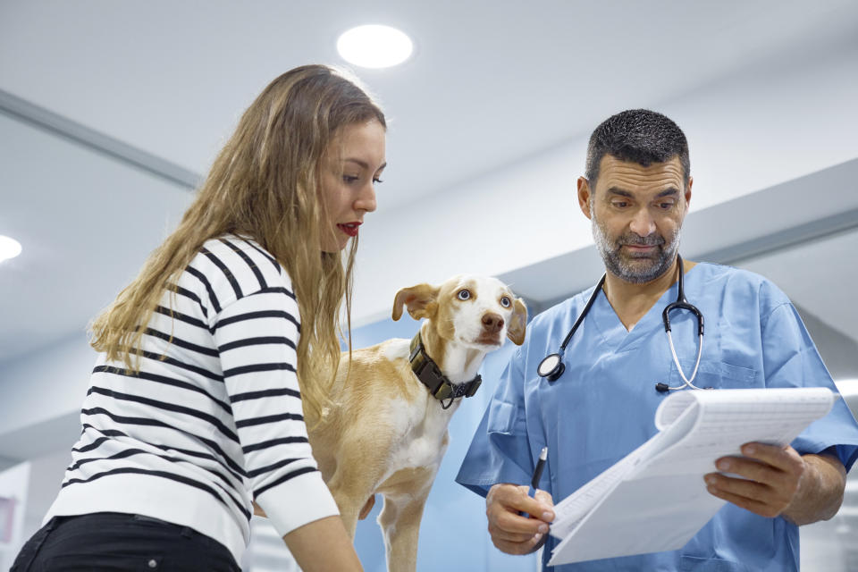
<svg viewBox="0 0 858 572"><path fill-rule="evenodd" d="M487 495L489 531L501 551L524 554L547 538L547 563L558 542L545 534L551 497L566 498L652 437L655 410L670 391L693 391L655 388L685 387L661 314L677 299L679 230L691 188L686 137L664 115L626 111L593 132L577 189L605 263L604 285L568 344L564 373L553 382L537 374L537 366L558 351L593 289L534 318L457 477ZM774 284L727 266L685 261L684 270L686 298L705 319L695 386L837 391L795 307ZM670 318L679 364L690 376L696 320L688 311ZM534 499L517 485L530 482L545 446L545 492ZM729 502L681 550L555 570L798 569L797 526L839 509L845 472L858 457L858 424L837 400L791 446L755 443L742 452L744 458L712 459L707 488Z"/></svg>

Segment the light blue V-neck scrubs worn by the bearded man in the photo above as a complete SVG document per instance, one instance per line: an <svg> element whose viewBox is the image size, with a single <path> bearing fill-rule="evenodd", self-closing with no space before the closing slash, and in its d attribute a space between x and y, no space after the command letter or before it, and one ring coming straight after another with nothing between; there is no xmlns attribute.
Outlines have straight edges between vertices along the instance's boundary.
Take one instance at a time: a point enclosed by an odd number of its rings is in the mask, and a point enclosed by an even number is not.
<svg viewBox="0 0 858 572"><path fill-rule="evenodd" d="M705 320L695 385L823 386L837 391L795 307L774 284L728 266L699 264L686 273L685 289ZM540 488L559 502L657 433L655 409L667 394L656 391L655 383L682 385L661 321L662 310L677 297L676 284L631 332L601 294L566 349L566 372L554 383L536 374L543 357L557 351L592 291L551 307L528 326L527 340L510 359L476 430L456 477L459 484L482 495L492 484L528 484L534 459L547 446ZM694 316L671 312L670 324L679 361L691 375L697 357ZM848 470L858 457L858 424L845 402L837 400L829 415L792 446L799 453L834 447ZM543 564L558 542L549 537ZM795 525L728 503L681 550L553 569L782 572L798 566Z"/></svg>

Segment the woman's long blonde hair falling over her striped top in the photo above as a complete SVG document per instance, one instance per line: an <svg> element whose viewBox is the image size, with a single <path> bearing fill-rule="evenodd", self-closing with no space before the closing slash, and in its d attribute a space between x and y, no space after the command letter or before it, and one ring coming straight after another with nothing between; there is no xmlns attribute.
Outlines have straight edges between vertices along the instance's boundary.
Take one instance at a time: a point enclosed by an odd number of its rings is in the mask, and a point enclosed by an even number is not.
<svg viewBox="0 0 858 572"><path fill-rule="evenodd" d="M273 80L242 115L181 223L137 278L91 324L90 344L139 372L142 337L165 290L206 240L233 233L256 240L289 273L298 299L298 375L305 412L318 417L340 360L340 309L350 338L357 239L343 255L322 251L320 162L341 128L384 114L342 71L307 65ZM174 296L174 292L172 292Z"/></svg>

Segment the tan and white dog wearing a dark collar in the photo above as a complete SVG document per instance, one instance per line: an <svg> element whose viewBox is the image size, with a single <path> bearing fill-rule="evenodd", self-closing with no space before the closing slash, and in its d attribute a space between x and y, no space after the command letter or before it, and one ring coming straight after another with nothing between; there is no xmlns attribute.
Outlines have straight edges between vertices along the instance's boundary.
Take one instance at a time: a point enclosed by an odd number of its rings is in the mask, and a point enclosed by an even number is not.
<svg viewBox="0 0 858 572"><path fill-rule="evenodd" d="M424 319L419 333L353 350L350 364L343 354L335 405L310 431L352 538L374 494L383 495L378 523L391 572L416 568L420 519L447 450L450 417L479 386L485 355L505 337L524 342L527 318L525 304L501 281L473 275L400 290L394 320L403 306Z"/></svg>

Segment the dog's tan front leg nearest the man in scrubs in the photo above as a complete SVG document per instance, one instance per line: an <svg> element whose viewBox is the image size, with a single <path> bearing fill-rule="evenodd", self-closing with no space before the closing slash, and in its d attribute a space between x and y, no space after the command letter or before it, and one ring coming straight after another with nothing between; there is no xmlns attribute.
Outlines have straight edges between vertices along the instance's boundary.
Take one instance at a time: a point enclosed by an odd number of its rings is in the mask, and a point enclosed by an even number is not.
<svg viewBox="0 0 858 572"><path fill-rule="evenodd" d="M415 481L408 492L384 492L384 507L378 516L387 551L388 572L415 572L417 564L417 537L423 517L426 498L435 478L435 471L414 471Z"/></svg>

